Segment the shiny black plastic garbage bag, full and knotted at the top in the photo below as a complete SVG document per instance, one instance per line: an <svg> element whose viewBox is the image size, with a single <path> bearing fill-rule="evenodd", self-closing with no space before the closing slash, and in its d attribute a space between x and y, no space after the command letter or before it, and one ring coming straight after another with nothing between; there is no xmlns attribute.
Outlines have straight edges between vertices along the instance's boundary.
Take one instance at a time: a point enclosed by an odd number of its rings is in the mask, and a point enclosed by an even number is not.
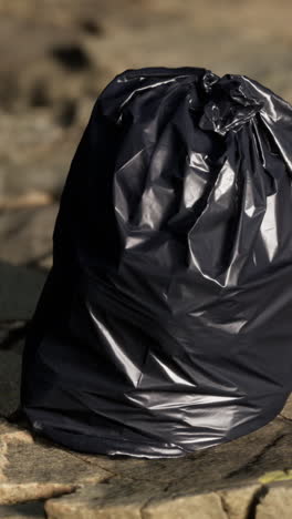
<svg viewBox="0 0 292 519"><path fill-rule="evenodd" d="M23 357L22 409L72 449L178 457L291 391L292 106L244 75L145 68L97 99Z"/></svg>

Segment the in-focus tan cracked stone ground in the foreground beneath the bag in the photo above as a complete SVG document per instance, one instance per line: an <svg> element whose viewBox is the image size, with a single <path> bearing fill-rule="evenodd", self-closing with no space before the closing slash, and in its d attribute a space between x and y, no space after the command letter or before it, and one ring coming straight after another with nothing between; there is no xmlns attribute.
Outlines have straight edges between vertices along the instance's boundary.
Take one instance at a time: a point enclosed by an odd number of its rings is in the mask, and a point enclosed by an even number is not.
<svg viewBox="0 0 292 519"><path fill-rule="evenodd" d="M0 327L0 519L291 519L292 399L258 431L185 458L82 455L4 418L19 403L21 326Z"/></svg>

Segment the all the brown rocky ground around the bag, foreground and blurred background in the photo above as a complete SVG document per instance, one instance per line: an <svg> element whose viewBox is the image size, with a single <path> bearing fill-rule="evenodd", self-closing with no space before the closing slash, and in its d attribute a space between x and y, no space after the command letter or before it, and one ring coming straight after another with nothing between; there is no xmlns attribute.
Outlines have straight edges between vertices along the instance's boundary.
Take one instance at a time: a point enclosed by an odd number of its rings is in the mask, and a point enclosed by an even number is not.
<svg viewBox="0 0 292 519"><path fill-rule="evenodd" d="M82 456L7 420L96 95L128 68L197 65L291 102L291 14L289 0L0 0L0 518L291 519L291 403L261 430L179 460Z"/></svg>

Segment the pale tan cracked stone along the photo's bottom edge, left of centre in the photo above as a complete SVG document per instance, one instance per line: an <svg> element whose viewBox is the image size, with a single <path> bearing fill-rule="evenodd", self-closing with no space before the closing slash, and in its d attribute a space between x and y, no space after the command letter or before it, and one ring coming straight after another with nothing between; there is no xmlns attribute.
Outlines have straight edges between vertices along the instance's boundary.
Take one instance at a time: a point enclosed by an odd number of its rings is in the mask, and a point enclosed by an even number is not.
<svg viewBox="0 0 292 519"><path fill-rule="evenodd" d="M163 489L155 481L100 484L71 496L50 499L45 511L49 519L227 519L216 493L164 499Z"/></svg>

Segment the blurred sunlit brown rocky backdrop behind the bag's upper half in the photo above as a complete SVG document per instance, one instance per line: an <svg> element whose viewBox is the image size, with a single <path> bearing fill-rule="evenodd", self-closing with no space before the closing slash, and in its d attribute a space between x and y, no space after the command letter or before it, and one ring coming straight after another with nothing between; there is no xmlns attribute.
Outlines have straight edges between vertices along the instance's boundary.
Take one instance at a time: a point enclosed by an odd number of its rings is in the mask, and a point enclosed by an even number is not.
<svg viewBox="0 0 292 519"><path fill-rule="evenodd" d="M291 0L0 0L0 261L51 265L93 103L128 68L249 75L292 101Z"/></svg>

